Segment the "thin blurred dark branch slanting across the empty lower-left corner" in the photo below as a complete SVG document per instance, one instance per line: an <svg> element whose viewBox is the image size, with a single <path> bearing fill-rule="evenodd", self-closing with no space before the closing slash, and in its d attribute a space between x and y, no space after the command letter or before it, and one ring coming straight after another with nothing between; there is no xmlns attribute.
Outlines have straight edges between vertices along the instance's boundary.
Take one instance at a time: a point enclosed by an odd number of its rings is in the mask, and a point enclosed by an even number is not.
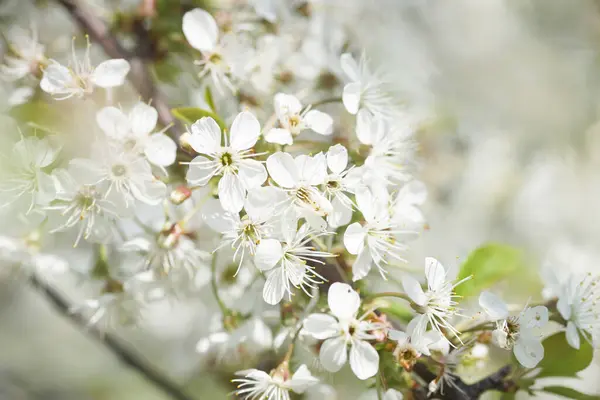
<svg viewBox="0 0 600 400"><path fill-rule="evenodd" d="M68 300L59 294L51 285L38 278L35 274L31 275L29 282L31 286L36 288L48 299L63 317L69 319L73 324L88 332L96 341L108 347L121 362L136 370L148 382L152 383L175 400L193 400L193 398L185 394L178 385L150 367L146 359L128 349L119 339L109 333L100 331L94 326L88 326L85 316L71 312L71 305Z"/></svg>

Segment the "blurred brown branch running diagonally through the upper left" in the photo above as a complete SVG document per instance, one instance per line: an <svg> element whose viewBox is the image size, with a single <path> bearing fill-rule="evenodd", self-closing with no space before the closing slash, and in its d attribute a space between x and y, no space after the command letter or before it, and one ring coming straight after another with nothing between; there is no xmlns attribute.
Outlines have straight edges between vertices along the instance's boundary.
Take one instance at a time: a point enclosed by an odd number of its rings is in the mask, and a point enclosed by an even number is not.
<svg viewBox="0 0 600 400"><path fill-rule="evenodd" d="M124 58L131 64L129 80L133 87L142 96L145 101L152 101L152 105L158 111L158 120L164 126L174 125L170 133L174 139L178 139L181 129L179 124L173 118L171 109L162 94L156 88L152 74L144 60L136 55L136 52L130 52L125 49L121 43L110 33L108 26L96 16L84 2L80 0L57 0L71 16L77 21L77 24L86 32L92 40L100 44L106 54L112 58ZM148 40L147 37L138 37L138 43Z"/></svg>

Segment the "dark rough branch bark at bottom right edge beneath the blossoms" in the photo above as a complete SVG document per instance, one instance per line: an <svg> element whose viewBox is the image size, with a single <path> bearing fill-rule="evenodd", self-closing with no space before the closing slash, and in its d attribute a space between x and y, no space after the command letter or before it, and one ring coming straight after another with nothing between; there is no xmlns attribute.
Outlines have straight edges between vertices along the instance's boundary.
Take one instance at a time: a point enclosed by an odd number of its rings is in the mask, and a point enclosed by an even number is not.
<svg viewBox="0 0 600 400"><path fill-rule="evenodd" d="M423 379L427 384L436 379L436 375L431 372L425 364L415 364L413 371ZM475 382L472 384L466 384L462 379L456 377L454 380L455 386L445 385L444 393L439 391L435 394L435 398L448 399L448 400L475 400L488 390L498 390L500 392L506 392L511 387L510 382L505 379L510 374L510 366L500 368L493 374ZM413 390L415 398L422 398L422 390Z"/></svg>

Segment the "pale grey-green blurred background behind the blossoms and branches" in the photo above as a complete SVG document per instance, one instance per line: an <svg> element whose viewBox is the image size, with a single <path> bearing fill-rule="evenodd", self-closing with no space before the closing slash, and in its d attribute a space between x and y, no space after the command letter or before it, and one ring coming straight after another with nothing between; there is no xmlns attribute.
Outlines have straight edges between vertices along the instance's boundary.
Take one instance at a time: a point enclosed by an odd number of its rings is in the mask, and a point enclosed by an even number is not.
<svg viewBox="0 0 600 400"><path fill-rule="evenodd" d="M87 3L99 14L137 5ZM375 64L386 65L407 108L425 121L416 136L417 175L429 190L429 228L412 245L409 269L420 268L426 255L455 268L481 244L500 242L521 249L527 260L523 276L529 278L504 288L509 300L537 295L543 279L530 270L600 273L600 1L314 3L352 27L352 40ZM33 21L41 35L56 37L57 49L68 48L77 32L51 0L0 0L0 18L2 29L9 19L25 27ZM65 34L66 26L71 33ZM193 73L180 79L164 90L179 103L194 104L200 89L181 85L193 82ZM85 131L77 109L65 105L63 111ZM0 135L9 129L3 124ZM0 231L14 229L10 217L1 217ZM85 258L82 250L81 259L70 261L85 264ZM60 286L73 298L81 295L76 279ZM198 399L226 398L230 376L211 371L194 351L213 311L210 292L200 292L155 304L141 326L119 335ZM571 385L600 394L599 376L596 360ZM326 381L339 389L337 397L326 391L307 397L355 399L362 390L347 371ZM3 280L1 400L167 398L44 297Z"/></svg>

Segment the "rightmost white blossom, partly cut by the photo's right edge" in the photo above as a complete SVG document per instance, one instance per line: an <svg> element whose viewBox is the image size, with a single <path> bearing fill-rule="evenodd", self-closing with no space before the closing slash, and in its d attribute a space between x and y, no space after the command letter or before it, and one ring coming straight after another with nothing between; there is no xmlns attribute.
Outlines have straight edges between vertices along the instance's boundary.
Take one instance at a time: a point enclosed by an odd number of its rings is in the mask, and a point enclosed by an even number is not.
<svg viewBox="0 0 600 400"><path fill-rule="evenodd" d="M571 276L558 297L556 308L567 321L567 341L575 349L581 346L580 333L593 346L600 344L599 282L600 278L591 274Z"/></svg>

